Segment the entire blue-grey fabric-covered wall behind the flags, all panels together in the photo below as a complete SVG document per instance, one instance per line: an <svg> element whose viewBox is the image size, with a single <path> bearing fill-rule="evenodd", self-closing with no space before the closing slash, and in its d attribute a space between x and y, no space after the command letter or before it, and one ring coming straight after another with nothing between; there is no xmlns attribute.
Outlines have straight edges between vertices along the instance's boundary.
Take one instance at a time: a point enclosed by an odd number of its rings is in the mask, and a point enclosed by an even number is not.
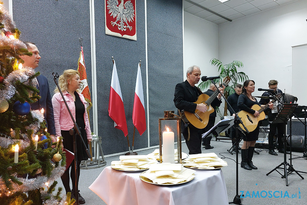
<svg viewBox="0 0 307 205"><path fill-rule="evenodd" d="M132 110L134 89L139 60L142 60L145 112L147 120L146 96L146 42L145 4L136 1L137 41L105 34L104 1L95 1L95 41L97 69L98 134L103 138L105 155L128 151L127 139L121 130L114 128L108 115L109 93L114 56L122 97L126 112L128 136L132 146ZM91 91L91 41L90 10L85 0L41 0L13 1L13 14L17 28L21 30L21 40L33 41L41 52L42 59L37 68L45 75L50 89L55 88L52 72L59 74L65 69L76 69L80 46L78 37L83 37L84 57ZM173 103L175 85L182 81L183 39L182 1L148 0L148 74L150 128L139 135L135 131L134 149L159 144L158 118L164 110L176 110ZM92 119L92 109L90 111ZM91 129L93 130L92 122ZM97 134L97 133L96 133Z"/></svg>

